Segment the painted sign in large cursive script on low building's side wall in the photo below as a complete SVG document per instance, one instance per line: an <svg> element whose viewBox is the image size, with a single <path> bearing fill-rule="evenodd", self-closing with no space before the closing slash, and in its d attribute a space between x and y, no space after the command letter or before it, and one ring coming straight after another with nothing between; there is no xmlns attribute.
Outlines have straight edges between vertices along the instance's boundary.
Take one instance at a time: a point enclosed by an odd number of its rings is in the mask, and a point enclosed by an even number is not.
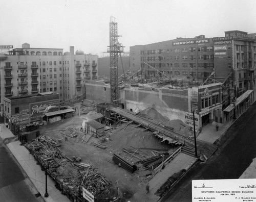
<svg viewBox="0 0 256 202"><path fill-rule="evenodd" d="M59 108L58 99L29 104L30 121L40 120L42 114L56 107Z"/></svg>

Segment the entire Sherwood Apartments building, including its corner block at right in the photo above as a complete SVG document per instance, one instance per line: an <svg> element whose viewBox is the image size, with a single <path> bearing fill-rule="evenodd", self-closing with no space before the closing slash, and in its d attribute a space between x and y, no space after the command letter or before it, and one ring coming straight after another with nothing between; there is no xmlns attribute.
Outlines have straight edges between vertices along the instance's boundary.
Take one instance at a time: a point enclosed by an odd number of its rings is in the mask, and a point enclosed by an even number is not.
<svg viewBox="0 0 256 202"><path fill-rule="evenodd" d="M233 86L238 91L253 89L256 34L236 30L225 32L224 37L200 35L131 46L130 64L131 68L141 69L146 79L167 76L204 81L215 71L215 77L223 79L232 73Z"/></svg>

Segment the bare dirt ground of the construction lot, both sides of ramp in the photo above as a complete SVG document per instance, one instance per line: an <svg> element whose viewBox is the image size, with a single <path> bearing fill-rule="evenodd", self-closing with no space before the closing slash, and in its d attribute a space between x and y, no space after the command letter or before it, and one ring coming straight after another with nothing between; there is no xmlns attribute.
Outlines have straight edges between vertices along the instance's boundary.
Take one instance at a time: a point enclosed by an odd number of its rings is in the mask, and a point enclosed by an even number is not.
<svg viewBox="0 0 256 202"><path fill-rule="evenodd" d="M145 197L149 197L145 195L145 186L155 174L152 171L159 166L161 170L161 166L164 166L162 162L172 155L180 145L168 144L167 141L156 137L152 131L129 121L106 126L104 134L100 137L89 135L81 131L81 124L87 116L94 113L96 112L81 116L75 113L72 118L43 125L40 127L40 134L58 142L58 148L68 158L78 158L79 163L90 165L102 173L113 187L118 187L119 195L123 198L121 201L127 201L129 198L143 201ZM161 116L154 107L142 111L139 115L152 119L157 124L172 128L172 130L187 130L188 135L190 133L189 129L183 126L182 121L169 121ZM131 172L120 164L116 164L113 161L114 154L132 165L136 165L136 170ZM151 199L148 198L148 201Z"/></svg>

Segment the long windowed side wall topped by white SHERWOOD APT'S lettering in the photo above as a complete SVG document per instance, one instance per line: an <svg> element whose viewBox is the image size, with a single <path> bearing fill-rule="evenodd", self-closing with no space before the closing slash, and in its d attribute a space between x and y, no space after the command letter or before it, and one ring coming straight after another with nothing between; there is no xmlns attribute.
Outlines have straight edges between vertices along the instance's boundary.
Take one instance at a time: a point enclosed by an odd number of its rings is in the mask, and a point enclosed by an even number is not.
<svg viewBox="0 0 256 202"><path fill-rule="evenodd" d="M200 35L132 46L131 67L141 69L146 79L167 76L202 81L214 69L213 43L211 38Z"/></svg>

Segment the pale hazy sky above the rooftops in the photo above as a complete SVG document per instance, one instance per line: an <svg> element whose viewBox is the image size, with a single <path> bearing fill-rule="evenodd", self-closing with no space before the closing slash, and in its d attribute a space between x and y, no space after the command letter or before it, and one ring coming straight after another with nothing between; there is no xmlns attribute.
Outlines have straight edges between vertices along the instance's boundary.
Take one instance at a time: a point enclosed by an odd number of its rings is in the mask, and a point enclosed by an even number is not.
<svg viewBox="0 0 256 202"><path fill-rule="evenodd" d="M110 17L124 50L176 39L256 33L255 0L0 0L0 45L70 46L85 54L106 52Z"/></svg>

